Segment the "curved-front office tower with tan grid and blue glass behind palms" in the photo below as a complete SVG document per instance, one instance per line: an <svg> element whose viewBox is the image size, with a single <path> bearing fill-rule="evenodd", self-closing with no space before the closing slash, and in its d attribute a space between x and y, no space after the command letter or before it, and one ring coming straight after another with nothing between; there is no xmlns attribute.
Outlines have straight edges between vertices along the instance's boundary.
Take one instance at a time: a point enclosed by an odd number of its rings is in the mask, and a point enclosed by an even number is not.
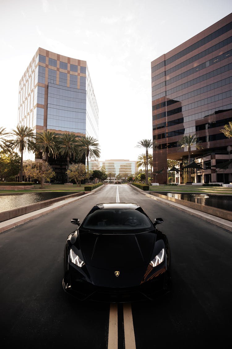
<svg viewBox="0 0 232 349"><path fill-rule="evenodd" d="M86 61L39 47L19 81L18 125L35 133L70 132L98 139L98 106ZM56 165L62 167L58 161Z"/></svg>

